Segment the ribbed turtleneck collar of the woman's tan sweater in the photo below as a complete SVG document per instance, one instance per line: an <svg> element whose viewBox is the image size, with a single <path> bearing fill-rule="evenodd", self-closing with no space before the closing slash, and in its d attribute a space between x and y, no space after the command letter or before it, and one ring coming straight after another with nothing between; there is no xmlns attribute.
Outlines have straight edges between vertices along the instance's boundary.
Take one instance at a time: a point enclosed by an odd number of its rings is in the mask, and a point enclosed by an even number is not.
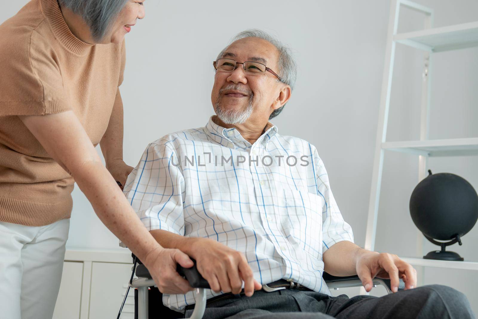
<svg viewBox="0 0 478 319"><path fill-rule="evenodd" d="M43 15L50 24L50 28L55 35L56 40L60 42L68 51L76 55L85 55L89 48L94 44L88 44L78 39L71 33L68 25L63 18L57 0L40 0Z"/></svg>

